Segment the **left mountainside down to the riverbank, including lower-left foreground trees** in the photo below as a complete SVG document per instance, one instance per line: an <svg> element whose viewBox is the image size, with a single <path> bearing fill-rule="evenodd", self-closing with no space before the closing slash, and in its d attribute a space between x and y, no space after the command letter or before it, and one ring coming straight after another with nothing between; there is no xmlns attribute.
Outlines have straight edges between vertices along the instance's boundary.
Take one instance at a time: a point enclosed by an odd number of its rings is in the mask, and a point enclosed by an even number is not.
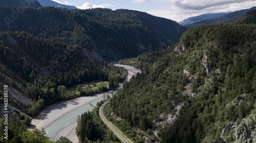
<svg viewBox="0 0 256 143"><path fill-rule="evenodd" d="M31 117L58 101L117 88L126 75L124 68L112 64L99 66L81 46L35 37L26 32L0 32L0 85L8 91L8 94L0 92L0 116L6 115L6 109L9 112L8 127L4 125L6 120L0 119L0 128L3 129L0 142L55 142L43 129L27 130ZM84 85L78 93L68 92L70 88L76 89L74 85L98 80L109 82L108 87L99 84L98 90L92 90ZM7 100L8 105L4 106ZM6 128L8 139L4 138ZM65 137L58 142L72 143Z"/></svg>

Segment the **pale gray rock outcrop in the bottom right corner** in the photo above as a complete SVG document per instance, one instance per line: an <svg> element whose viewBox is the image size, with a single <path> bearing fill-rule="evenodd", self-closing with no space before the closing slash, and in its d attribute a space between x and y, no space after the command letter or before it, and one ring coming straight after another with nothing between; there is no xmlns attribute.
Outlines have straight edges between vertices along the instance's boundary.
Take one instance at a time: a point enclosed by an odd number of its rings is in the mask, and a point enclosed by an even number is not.
<svg viewBox="0 0 256 143"><path fill-rule="evenodd" d="M221 133L225 142L233 143L254 143L256 142L256 115L229 122Z"/></svg>

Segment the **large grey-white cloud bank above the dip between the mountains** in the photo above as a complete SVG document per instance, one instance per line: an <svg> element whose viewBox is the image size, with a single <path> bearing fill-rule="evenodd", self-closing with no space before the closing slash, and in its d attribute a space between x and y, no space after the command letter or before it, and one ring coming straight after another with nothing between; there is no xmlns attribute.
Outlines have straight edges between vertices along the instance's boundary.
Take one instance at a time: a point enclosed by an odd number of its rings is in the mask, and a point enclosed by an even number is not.
<svg viewBox="0 0 256 143"><path fill-rule="evenodd" d="M165 3L166 5L162 9L144 12L178 22L191 16L206 13L233 12L256 6L256 1L252 0L155 0L155 2Z"/></svg>

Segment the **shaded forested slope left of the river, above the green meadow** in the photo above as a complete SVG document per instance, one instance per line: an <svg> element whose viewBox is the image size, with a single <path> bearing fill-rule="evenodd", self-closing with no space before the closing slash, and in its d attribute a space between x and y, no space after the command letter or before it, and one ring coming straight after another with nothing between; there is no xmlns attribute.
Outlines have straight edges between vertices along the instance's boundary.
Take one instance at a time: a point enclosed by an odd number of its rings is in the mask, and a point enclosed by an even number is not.
<svg viewBox="0 0 256 143"><path fill-rule="evenodd" d="M31 116L45 105L71 98L61 94L68 87L92 80L118 83L127 74L113 65L99 66L82 47L26 32L1 32L0 45L0 84L12 89L12 105Z"/></svg>

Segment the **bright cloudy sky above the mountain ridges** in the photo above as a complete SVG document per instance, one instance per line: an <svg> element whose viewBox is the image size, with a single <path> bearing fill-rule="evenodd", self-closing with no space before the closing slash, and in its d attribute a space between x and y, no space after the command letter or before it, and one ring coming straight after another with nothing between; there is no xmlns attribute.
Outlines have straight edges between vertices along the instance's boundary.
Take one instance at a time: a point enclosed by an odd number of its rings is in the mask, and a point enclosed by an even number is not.
<svg viewBox="0 0 256 143"><path fill-rule="evenodd" d="M79 9L110 8L147 12L180 22L205 13L233 12L256 6L256 0L52 0Z"/></svg>

